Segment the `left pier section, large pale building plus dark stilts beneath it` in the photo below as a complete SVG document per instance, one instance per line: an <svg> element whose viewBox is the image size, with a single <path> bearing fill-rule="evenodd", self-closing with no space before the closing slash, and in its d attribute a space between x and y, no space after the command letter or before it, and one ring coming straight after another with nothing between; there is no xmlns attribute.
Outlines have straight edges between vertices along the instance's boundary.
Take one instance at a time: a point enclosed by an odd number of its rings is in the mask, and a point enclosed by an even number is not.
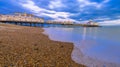
<svg viewBox="0 0 120 67"><path fill-rule="evenodd" d="M34 17L31 14L14 14L14 15L0 15L0 22L2 23L11 23L16 25L29 24L32 26L33 24L43 24L44 19Z"/></svg>

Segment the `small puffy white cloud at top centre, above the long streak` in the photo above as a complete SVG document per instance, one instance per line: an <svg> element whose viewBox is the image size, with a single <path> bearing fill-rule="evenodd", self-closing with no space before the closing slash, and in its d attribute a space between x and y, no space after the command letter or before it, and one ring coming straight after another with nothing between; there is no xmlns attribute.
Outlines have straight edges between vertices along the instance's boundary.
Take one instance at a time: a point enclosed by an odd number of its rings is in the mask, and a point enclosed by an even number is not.
<svg viewBox="0 0 120 67"><path fill-rule="evenodd" d="M57 8L65 7L65 5L62 3L61 0L52 0L52 1L50 1L50 4L48 7L50 9L57 9Z"/></svg>

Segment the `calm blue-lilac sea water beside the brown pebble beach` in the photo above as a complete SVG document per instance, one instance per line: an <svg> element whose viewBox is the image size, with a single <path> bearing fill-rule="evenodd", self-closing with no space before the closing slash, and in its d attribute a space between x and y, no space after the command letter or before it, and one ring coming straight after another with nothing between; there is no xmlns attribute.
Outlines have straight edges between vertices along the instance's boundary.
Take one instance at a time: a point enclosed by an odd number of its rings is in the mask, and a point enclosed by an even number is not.
<svg viewBox="0 0 120 67"><path fill-rule="evenodd" d="M89 64L96 64L96 60L120 64L119 26L78 28L50 27L44 28L44 30L44 33L52 40L74 43L71 57L77 63L83 63L89 67ZM87 59L85 57L87 57ZM104 64L105 63L102 64L103 67Z"/></svg>

